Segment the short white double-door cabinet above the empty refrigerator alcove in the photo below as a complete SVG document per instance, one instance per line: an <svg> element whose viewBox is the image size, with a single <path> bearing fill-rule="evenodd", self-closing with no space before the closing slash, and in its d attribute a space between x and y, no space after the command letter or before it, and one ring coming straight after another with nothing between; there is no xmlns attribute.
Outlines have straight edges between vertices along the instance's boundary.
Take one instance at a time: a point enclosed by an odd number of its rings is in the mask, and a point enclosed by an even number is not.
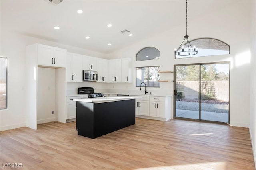
<svg viewBox="0 0 256 170"><path fill-rule="evenodd" d="M38 65L65 68L66 54L66 49L38 44Z"/></svg>

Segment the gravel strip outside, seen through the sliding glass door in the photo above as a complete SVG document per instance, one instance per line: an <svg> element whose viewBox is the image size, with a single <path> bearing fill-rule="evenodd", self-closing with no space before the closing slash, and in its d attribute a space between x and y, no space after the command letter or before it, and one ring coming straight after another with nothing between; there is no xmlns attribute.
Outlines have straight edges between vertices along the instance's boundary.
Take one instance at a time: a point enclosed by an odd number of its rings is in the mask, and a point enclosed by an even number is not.
<svg viewBox="0 0 256 170"><path fill-rule="evenodd" d="M176 101L176 109L199 111L199 103ZM201 111L228 113L228 104L201 103Z"/></svg>

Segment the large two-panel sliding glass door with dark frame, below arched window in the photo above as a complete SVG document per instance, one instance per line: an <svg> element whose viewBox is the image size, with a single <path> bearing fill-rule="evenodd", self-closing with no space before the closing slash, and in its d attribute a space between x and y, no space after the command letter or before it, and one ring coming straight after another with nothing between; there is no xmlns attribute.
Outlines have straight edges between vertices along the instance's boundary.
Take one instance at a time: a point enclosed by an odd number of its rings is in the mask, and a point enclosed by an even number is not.
<svg viewBox="0 0 256 170"><path fill-rule="evenodd" d="M174 117L229 123L230 63L174 66Z"/></svg>

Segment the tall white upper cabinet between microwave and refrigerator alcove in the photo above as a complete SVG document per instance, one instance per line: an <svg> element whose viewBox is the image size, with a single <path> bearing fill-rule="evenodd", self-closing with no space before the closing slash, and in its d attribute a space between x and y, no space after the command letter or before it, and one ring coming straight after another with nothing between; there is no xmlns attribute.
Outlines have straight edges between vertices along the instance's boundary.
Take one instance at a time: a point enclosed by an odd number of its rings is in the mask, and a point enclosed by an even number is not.
<svg viewBox="0 0 256 170"><path fill-rule="evenodd" d="M67 53L66 80L67 82L83 82L83 58L80 54Z"/></svg>

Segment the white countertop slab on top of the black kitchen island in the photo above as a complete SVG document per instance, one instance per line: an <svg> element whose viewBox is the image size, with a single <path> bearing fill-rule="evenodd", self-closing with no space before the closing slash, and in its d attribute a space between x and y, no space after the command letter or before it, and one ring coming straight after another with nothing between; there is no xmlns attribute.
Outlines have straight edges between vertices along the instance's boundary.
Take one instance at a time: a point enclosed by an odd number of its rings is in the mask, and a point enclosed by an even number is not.
<svg viewBox="0 0 256 170"><path fill-rule="evenodd" d="M105 103L105 102L115 102L120 100L130 100L135 99L135 96L122 96L122 97L98 97L98 98L87 98L87 99L74 99L77 102L89 102L89 103Z"/></svg>

